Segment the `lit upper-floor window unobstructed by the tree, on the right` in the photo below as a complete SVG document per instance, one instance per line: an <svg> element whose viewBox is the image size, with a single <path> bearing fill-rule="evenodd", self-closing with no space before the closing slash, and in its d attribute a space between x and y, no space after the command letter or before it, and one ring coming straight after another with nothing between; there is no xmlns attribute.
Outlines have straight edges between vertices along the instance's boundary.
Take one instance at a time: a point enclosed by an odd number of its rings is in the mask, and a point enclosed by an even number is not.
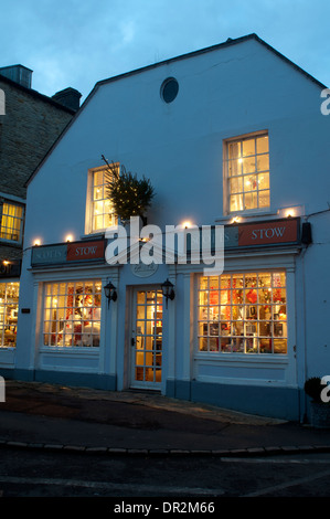
<svg viewBox="0 0 330 519"><path fill-rule="evenodd" d="M268 136L227 141L225 178L230 213L269 208Z"/></svg>

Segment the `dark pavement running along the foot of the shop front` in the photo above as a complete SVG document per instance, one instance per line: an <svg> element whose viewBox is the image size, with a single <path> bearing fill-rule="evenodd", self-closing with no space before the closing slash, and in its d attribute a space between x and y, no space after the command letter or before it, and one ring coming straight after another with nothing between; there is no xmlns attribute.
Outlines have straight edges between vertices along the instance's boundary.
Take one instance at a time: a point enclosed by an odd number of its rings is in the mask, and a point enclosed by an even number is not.
<svg viewBox="0 0 330 519"><path fill-rule="evenodd" d="M330 453L330 428L238 413L156 392L6 381L0 447L111 455Z"/></svg>

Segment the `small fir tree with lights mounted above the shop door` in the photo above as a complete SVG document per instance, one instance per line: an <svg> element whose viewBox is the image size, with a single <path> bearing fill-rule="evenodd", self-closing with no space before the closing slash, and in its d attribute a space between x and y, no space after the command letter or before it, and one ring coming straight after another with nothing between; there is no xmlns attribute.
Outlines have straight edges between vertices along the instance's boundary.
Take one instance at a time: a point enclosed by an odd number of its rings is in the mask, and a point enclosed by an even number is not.
<svg viewBox="0 0 330 519"><path fill-rule="evenodd" d="M149 179L145 176L138 179L137 174L126 171L125 166L121 166L119 171L115 163L108 163L106 191L116 214L123 221L129 220L130 216L140 216L145 220L145 213L155 195Z"/></svg>

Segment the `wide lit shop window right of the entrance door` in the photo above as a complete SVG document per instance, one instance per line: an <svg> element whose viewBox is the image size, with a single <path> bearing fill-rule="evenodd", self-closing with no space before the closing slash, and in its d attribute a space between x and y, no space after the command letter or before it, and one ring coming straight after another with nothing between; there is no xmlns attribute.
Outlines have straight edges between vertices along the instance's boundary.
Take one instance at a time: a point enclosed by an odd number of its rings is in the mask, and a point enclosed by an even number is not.
<svg viewBox="0 0 330 519"><path fill-rule="evenodd" d="M199 350L287 353L284 272L200 277Z"/></svg>

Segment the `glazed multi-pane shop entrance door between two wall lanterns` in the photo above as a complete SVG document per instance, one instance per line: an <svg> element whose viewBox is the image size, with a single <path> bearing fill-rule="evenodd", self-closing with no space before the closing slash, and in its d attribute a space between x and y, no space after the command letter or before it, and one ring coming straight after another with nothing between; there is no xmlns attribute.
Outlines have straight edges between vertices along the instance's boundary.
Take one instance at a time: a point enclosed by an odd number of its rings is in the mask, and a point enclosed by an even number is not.
<svg viewBox="0 0 330 519"><path fill-rule="evenodd" d="M159 389L162 364L162 293L134 290L131 388Z"/></svg>

